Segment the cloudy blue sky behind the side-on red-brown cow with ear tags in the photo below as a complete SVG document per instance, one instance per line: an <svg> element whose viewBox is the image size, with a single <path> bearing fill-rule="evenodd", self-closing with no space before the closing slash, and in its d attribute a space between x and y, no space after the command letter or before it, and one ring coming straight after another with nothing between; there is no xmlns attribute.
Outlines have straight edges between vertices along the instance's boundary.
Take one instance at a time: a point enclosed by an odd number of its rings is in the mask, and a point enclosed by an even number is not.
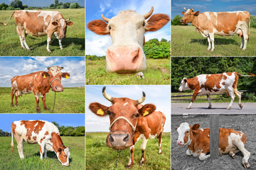
<svg viewBox="0 0 256 170"><path fill-rule="evenodd" d="M53 65L70 74L70 79L61 79L64 87L85 86L85 57L0 57L0 87L10 87L12 77L48 71Z"/></svg>

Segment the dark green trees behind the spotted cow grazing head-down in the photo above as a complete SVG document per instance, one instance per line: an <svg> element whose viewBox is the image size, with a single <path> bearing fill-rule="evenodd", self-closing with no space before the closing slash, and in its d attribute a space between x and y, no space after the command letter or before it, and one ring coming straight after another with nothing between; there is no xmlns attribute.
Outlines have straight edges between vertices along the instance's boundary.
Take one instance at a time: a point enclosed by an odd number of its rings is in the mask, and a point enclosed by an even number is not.
<svg viewBox="0 0 256 170"><path fill-rule="evenodd" d="M85 136L85 126L60 126L56 122L52 122L60 131L60 136ZM4 132L0 129L0 137L9 137L11 132Z"/></svg>

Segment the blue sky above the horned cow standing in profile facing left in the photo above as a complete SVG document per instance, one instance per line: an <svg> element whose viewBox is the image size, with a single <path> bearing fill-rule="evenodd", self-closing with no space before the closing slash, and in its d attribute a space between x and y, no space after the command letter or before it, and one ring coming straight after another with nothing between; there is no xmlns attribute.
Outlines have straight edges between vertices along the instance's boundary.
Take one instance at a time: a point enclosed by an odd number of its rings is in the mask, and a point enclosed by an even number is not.
<svg viewBox="0 0 256 170"><path fill-rule="evenodd" d="M183 8L193 8L194 11L224 12L224 11L249 11L256 15L256 0L172 0L171 18L181 14Z"/></svg>

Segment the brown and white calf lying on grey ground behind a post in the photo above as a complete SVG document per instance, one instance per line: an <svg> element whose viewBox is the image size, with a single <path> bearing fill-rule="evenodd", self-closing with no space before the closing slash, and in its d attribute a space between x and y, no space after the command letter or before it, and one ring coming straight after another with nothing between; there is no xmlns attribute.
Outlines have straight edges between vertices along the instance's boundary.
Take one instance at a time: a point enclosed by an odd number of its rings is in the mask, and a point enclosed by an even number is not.
<svg viewBox="0 0 256 170"><path fill-rule="evenodd" d="M199 129L198 124L190 126L188 123L181 123L177 128L178 147L188 146L188 156L199 157L201 161L210 157L210 129ZM242 152L242 164L245 168L250 166L248 159L250 152L245 149L246 135L233 129L219 129L219 155L230 154L235 159L235 153Z"/></svg>

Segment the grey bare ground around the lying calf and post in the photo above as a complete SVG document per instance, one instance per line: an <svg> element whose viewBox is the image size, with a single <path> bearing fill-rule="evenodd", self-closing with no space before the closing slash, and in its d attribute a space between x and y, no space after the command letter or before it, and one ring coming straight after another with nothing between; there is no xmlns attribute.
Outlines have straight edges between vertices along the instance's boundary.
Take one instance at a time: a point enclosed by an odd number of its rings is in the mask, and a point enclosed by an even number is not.
<svg viewBox="0 0 256 170"><path fill-rule="evenodd" d="M255 154L255 115L220 115L220 128L232 128L244 132L247 136L245 148L250 152L249 169L256 169ZM242 153L235 154L235 159L229 154L223 154L213 161L206 159L201 161L198 157L188 157L186 155L187 146L179 148L176 144L178 132L176 128L187 122L189 125L198 123L200 128L210 128L210 116L198 115L190 118L172 117L171 118L171 169L244 169L242 166Z"/></svg>

